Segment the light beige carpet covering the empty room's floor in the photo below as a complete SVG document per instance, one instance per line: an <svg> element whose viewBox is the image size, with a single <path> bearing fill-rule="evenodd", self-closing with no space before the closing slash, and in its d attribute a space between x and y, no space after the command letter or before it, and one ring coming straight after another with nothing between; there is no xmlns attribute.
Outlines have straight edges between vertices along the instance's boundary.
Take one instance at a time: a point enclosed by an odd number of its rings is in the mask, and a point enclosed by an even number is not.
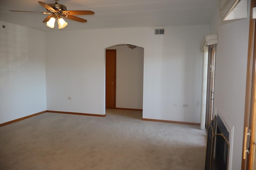
<svg viewBox="0 0 256 170"><path fill-rule="evenodd" d="M44 113L0 127L0 169L204 169L204 130L141 118L115 109L106 117Z"/></svg>

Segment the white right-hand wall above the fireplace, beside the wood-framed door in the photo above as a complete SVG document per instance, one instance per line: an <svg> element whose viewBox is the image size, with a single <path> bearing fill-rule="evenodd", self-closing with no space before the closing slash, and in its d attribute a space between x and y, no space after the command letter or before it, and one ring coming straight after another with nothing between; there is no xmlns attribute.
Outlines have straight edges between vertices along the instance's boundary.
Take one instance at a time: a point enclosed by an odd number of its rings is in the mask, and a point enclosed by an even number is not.
<svg viewBox="0 0 256 170"><path fill-rule="evenodd" d="M249 18L221 22L218 12L211 25L211 32L218 33L214 113L218 109L234 125L234 170L241 169L242 160L248 31Z"/></svg>

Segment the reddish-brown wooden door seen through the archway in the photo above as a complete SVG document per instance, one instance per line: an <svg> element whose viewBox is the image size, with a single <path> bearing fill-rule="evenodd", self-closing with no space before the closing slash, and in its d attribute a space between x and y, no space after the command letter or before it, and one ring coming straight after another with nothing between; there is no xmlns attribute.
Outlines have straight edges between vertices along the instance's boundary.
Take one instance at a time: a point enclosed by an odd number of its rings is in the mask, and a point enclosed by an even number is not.
<svg viewBox="0 0 256 170"><path fill-rule="evenodd" d="M106 108L116 108L116 50L106 50Z"/></svg>

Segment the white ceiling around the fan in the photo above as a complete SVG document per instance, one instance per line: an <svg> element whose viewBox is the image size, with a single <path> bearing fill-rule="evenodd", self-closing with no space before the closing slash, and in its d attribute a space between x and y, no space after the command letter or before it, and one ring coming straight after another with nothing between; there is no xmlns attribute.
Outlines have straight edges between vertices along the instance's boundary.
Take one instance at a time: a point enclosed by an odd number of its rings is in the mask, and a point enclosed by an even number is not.
<svg viewBox="0 0 256 170"><path fill-rule="evenodd" d="M41 0L49 4L54 0ZM9 10L46 10L36 0L0 0L0 21L24 25L42 31L98 29L114 27L158 27L208 24L218 8L218 0L58 0L67 10L91 10L92 16L80 23L65 19L68 26L54 29L42 23L47 14L10 12Z"/></svg>

